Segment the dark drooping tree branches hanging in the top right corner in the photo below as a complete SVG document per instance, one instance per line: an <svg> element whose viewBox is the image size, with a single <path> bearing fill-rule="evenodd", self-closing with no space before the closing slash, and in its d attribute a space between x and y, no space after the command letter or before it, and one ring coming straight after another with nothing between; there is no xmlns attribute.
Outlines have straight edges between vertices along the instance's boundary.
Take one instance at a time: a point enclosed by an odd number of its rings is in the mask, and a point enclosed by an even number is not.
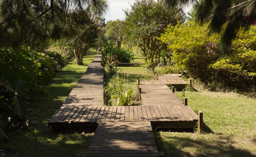
<svg viewBox="0 0 256 157"><path fill-rule="evenodd" d="M222 54L227 52L228 46L236 38L240 29L249 29L251 24L256 22L256 0L165 0L168 7L182 7L182 5L188 5L189 3L196 4L196 17L201 23L213 14L209 25L212 32L220 33L228 18L228 25L219 44L219 50ZM238 5L239 3L242 3L242 5ZM237 6L232 7L234 5Z"/></svg>

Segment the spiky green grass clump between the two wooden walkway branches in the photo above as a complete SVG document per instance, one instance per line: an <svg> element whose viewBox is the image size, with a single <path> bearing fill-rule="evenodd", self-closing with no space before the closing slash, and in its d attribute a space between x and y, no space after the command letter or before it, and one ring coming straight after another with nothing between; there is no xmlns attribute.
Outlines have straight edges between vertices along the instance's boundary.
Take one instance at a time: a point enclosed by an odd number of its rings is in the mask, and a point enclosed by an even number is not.
<svg viewBox="0 0 256 157"><path fill-rule="evenodd" d="M114 75L104 90L107 93L107 96L111 97L109 99L108 105L117 105L117 106L128 106L132 105L132 96L134 95L134 90L128 84L127 79L119 77L119 75Z"/></svg>

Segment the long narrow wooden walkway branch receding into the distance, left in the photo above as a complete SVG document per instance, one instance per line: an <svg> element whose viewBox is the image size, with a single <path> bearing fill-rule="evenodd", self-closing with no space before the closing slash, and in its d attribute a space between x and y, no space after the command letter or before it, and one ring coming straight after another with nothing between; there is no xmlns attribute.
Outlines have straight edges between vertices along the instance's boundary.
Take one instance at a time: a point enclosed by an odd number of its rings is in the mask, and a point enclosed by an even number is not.
<svg viewBox="0 0 256 157"><path fill-rule="evenodd" d="M86 73L72 88L63 106L89 107L103 105L103 77L101 56L89 63Z"/></svg>

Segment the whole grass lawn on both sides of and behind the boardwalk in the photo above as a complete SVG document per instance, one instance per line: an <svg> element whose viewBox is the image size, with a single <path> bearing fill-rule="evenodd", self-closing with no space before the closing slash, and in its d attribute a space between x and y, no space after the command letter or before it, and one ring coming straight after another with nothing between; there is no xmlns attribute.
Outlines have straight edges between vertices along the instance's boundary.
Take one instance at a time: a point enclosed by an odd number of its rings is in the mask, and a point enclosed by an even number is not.
<svg viewBox="0 0 256 157"><path fill-rule="evenodd" d="M88 65L94 56L86 56ZM85 73L87 66L69 64L57 74L49 88L49 97L35 103L34 126L9 138L0 145L9 156L74 156L85 151L93 136L86 134L53 134L47 127L49 118L62 105L70 90ZM143 67L118 67L129 74L147 79ZM182 92L176 92L181 97ZM256 99L235 93L185 92L188 105L197 113L203 111L203 133L157 132L157 146L166 156L256 156Z"/></svg>

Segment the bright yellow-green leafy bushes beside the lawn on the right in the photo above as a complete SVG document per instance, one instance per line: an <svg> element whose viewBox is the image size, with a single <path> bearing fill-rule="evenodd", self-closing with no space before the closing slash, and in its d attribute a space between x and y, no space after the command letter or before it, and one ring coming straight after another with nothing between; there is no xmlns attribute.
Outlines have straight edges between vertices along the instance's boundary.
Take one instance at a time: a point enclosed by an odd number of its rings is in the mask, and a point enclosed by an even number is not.
<svg viewBox="0 0 256 157"><path fill-rule="evenodd" d="M161 40L172 50L176 65L211 90L255 90L256 27L240 31L226 55L217 53L220 35L209 24L194 22L168 27Z"/></svg>

